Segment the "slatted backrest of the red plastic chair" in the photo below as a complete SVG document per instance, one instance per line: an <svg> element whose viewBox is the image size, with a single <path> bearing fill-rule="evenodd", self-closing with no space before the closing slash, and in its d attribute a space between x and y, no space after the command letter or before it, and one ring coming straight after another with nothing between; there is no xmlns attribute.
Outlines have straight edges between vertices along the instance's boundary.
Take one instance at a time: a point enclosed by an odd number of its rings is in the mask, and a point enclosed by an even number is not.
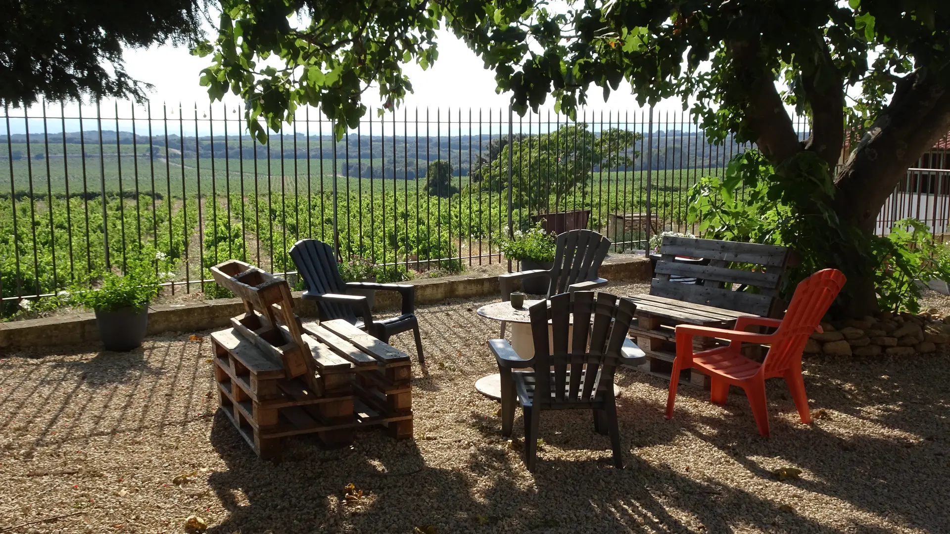
<svg viewBox="0 0 950 534"><path fill-rule="evenodd" d="M798 283L775 332L779 340L771 344L762 364L767 375L783 372L802 359L808 336L818 328L844 285L845 275L837 269L823 269Z"/></svg>

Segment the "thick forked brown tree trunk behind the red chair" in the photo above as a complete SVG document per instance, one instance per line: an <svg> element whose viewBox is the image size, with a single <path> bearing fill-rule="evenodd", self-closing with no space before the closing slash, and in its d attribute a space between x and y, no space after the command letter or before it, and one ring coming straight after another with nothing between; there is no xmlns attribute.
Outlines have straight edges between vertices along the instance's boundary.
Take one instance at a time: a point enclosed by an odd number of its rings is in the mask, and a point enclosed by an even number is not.
<svg viewBox="0 0 950 534"><path fill-rule="evenodd" d="M748 50L733 44L733 51L741 56ZM809 150L821 156L834 172L835 153L841 146L835 140L844 137L844 111L836 114L835 109L842 109L839 106L843 94L818 91L808 86L809 77L804 77L814 116L811 138L803 145L798 142L770 77L752 68L747 76L750 97L746 102L745 125L756 133L756 144L769 161L777 165L802 150ZM777 114L778 110L782 113ZM839 219L870 238L884 200L904 177L906 169L947 131L950 131L947 86L922 69L905 76L896 87L890 105L884 108L838 170L837 192L831 205ZM844 265L839 266L848 272L845 314L868 315L877 310L873 280L877 266L870 264L864 255L862 243L853 245L852 250L842 251Z"/></svg>

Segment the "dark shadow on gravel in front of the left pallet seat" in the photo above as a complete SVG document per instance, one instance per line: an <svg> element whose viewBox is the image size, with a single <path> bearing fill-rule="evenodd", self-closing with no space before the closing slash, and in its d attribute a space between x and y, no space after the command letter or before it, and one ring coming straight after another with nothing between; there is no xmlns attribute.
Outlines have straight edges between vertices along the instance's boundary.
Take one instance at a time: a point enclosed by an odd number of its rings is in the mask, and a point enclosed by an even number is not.
<svg viewBox="0 0 950 534"><path fill-rule="evenodd" d="M308 436L288 439L281 459L267 461L218 413L211 442L228 468L208 484L230 517L209 533L404 533L474 505L462 472L427 466L412 440L392 440L382 429L359 431L352 446L337 449ZM362 498L346 499L350 484Z"/></svg>

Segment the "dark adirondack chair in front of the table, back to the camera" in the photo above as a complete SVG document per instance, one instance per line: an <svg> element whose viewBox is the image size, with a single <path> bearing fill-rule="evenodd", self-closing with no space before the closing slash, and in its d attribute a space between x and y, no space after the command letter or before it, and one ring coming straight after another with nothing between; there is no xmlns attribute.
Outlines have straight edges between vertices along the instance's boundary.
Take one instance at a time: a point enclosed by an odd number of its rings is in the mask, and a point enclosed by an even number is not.
<svg viewBox="0 0 950 534"><path fill-rule="evenodd" d="M608 293L596 297L592 291L562 293L528 310L535 347L531 359L523 360L504 339L488 340L502 375L502 434L511 435L517 395L524 414L524 463L529 471L535 468L542 410L592 410L594 429L610 434L614 466L623 468L614 372L627 360L640 361L624 351L636 309L630 300ZM574 334L568 346L571 314ZM553 346L548 344L548 320ZM513 371L525 368L534 371Z"/></svg>

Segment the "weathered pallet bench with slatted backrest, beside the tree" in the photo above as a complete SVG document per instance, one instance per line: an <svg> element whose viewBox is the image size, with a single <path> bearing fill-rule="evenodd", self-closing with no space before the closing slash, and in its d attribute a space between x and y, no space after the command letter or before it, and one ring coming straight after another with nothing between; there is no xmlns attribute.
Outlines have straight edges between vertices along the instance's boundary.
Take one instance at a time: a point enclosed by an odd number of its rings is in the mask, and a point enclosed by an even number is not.
<svg viewBox="0 0 950 534"><path fill-rule="evenodd" d="M794 264L786 247L667 236L659 254L650 294L631 296L637 303L637 320L630 333L647 356L642 371L669 376L677 324L731 328L742 315L774 317L785 311L779 292L788 266ZM676 257L705 258L709 264ZM756 292L745 291L750 287ZM694 343L701 349L717 342L696 338ZM709 378L699 372L684 380L709 387Z"/></svg>

